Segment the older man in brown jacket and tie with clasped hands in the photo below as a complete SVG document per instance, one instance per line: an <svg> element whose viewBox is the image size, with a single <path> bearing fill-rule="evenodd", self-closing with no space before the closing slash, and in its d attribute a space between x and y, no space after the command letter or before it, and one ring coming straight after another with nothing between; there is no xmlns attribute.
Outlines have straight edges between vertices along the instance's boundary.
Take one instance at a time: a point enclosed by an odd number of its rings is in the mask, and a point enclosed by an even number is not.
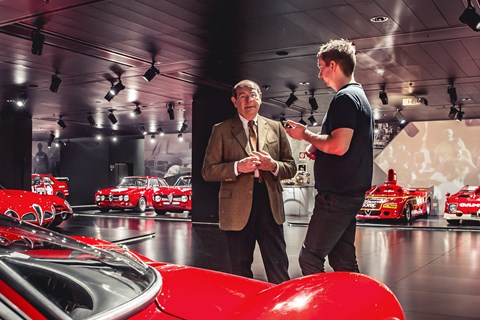
<svg viewBox="0 0 480 320"><path fill-rule="evenodd" d="M226 231L232 272L253 277L258 242L268 281L280 283L289 280L280 180L295 175L295 162L280 122L258 115L258 84L240 81L231 100L238 114L213 127L202 175L221 182L220 228Z"/></svg>

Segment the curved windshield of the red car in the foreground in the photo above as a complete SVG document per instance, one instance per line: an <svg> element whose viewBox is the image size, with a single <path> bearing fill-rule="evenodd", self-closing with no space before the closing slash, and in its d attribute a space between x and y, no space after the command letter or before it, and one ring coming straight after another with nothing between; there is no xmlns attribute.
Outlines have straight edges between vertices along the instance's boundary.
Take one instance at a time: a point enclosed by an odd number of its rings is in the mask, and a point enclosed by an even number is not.
<svg viewBox="0 0 480 320"><path fill-rule="evenodd" d="M115 310L134 310L139 300L143 304L145 295L154 298L160 288L158 273L125 246L93 247L2 215L0 279L25 298L40 300L34 305L48 309L52 304L47 318L59 318L55 312L61 310L73 319L98 314L113 319Z"/></svg>

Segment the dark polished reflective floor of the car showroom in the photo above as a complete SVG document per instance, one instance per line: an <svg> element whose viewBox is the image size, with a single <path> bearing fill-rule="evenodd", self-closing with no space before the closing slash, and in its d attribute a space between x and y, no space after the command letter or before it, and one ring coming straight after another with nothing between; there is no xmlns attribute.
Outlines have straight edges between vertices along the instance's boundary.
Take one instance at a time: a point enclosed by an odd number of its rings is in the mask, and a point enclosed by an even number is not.
<svg viewBox="0 0 480 320"><path fill-rule="evenodd" d="M288 221L284 228L290 276L296 278L301 276L297 258L308 217L289 216ZM192 224L182 214L157 217L150 211L100 214L75 209L74 217L57 230L131 241L129 248L154 260L228 272L224 234L218 226ZM145 238L134 238L140 236ZM361 272L390 287L407 319L480 319L479 225L452 228L438 216L410 226L359 223L356 245ZM255 278L265 280L258 251L253 270Z"/></svg>

